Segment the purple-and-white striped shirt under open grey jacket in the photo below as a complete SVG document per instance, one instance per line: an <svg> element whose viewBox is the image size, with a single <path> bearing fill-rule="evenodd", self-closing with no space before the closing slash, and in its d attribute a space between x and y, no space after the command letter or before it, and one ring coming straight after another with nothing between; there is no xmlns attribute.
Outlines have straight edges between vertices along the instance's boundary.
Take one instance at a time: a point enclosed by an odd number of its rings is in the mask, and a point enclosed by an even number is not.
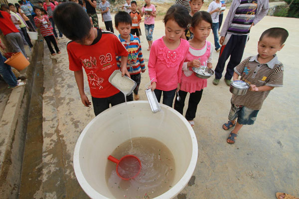
<svg viewBox="0 0 299 199"><path fill-rule="evenodd" d="M235 16L227 32L236 35L249 34L250 26L255 18L258 7L257 0L241 0L239 7L236 9Z"/></svg>

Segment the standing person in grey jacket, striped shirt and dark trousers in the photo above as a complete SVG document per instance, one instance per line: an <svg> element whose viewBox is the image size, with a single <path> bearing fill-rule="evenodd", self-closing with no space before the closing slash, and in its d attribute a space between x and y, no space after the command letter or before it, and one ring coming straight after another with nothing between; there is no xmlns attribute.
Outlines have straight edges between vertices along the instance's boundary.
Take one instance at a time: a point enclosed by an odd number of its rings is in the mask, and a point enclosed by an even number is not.
<svg viewBox="0 0 299 199"><path fill-rule="evenodd" d="M236 67L242 60L249 32L267 14L269 0L233 0L220 32L220 54L215 68L214 85L219 84L225 62L230 56L226 66L224 81L230 86Z"/></svg>

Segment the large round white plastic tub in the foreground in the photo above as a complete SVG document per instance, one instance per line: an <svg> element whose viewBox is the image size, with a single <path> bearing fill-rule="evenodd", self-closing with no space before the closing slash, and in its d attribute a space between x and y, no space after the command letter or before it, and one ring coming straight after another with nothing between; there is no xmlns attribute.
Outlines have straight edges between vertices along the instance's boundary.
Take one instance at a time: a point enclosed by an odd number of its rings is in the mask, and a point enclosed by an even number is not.
<svg viewBox="0 0 299 199"><path fill-rule="evenodd" d="M160 104L152 113L148 101L131 101L113 106L84 128L74 151L74 170L85 193L92 199L114 199L106 184L107 157L132 137L151 137L164 143L175 160L172 188L155 199L172 199L186 186L197 161L197 141L188 121L176 110Z"/></svg>

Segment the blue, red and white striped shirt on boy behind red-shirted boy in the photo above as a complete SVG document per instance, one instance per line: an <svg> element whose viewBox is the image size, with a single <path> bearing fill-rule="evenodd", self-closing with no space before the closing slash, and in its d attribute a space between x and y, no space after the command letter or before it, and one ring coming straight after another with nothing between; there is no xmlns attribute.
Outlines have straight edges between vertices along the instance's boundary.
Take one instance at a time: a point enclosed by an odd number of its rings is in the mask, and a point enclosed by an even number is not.
<svg viewBox="0 0 299 199"><path fill-rule="evenodd" d="M130 43L127 43L127 41L123 39L121 35L119 35L119 39L122 42L122 44L125 46L127 51L129 52L127 69L130 75L135 75L135 74L139 74L141 70L146 69L146 66L145 66L145 61L143 59L139 38L133 34L130 34L130 36L131 36ZM121 56L116 57L116 60L117 60L117 66L121 67L122 57Z"/></svg>

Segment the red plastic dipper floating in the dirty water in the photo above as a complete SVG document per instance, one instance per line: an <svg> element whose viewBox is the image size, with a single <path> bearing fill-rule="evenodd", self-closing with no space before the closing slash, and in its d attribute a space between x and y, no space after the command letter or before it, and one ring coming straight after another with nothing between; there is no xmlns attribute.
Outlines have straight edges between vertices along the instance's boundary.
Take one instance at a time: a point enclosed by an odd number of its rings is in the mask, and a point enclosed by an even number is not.
<svg viewBox="0 0 299 199"><path fill-rule="evenodd" d="M130 180L138 176L141 170L141 162L134 155L126 155L120 160L113 156L109 156L108 160L116 163L116 173L123 180Z"/></svg>

